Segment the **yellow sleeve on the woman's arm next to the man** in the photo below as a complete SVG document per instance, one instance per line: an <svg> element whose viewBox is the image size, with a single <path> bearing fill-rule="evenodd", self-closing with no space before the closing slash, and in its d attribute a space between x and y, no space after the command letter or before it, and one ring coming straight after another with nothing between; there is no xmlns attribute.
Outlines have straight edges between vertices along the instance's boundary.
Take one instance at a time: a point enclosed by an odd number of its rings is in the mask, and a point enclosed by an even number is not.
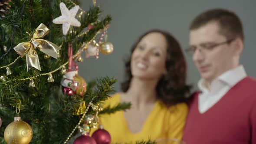
<svg viewBox="0 0 256 144"><path fill-rule="evenodd" d="M187 120L188 107L185 103L177 104L170 108L169 129L167 137L182 139L184 127Z"/></svg>

